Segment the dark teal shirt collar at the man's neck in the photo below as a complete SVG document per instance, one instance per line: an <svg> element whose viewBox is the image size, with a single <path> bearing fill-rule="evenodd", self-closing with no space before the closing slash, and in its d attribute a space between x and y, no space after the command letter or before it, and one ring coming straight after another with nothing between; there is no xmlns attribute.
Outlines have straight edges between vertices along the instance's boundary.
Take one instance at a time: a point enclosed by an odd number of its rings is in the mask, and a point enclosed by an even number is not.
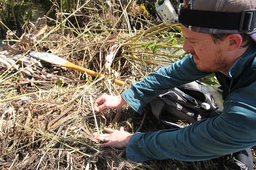
<svg viewBox="0 0 256 170"><path fill-rule="evenodd" d="M234 64L231 66L227 73L227 77L231 79L237 78L246 66L249 64L249 61L255 56L256 54L256 44L250 45L250 47L240 56Z"/></svg>

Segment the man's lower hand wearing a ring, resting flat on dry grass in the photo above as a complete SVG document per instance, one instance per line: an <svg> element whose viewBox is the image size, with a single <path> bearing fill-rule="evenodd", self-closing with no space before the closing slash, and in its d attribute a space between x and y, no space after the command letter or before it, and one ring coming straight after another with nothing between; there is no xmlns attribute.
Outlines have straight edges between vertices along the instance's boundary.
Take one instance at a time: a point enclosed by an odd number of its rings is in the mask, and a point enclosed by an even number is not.
<svg viewBox="0 0 256 170"><path fill-rule="evenodd" d="M121 127L120 130L113 130L109 128L104 128L109 134L94 134L94 138L106 143L100 145L101 148L104 147L114 147L114 148L126 148L129 140L132 137L132 133L124 131L124 127Z"/></svg>

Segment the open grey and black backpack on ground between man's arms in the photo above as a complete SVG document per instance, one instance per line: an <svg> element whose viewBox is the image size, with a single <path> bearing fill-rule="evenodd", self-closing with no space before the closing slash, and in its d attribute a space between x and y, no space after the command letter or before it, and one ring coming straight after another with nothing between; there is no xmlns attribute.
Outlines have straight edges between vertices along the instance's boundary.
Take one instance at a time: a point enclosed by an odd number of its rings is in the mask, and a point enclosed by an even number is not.
<svg viewBox="0 0 256 170"><path fill-rule="evenodd" d="M184 126L165 119L171 116L187 123L194 123L200 119L213 118L221 114L222 103L221 90L218 87L194 81L164 91L149 102L149 105L152 113L161 123L174 128L183 128Z"/></svg>

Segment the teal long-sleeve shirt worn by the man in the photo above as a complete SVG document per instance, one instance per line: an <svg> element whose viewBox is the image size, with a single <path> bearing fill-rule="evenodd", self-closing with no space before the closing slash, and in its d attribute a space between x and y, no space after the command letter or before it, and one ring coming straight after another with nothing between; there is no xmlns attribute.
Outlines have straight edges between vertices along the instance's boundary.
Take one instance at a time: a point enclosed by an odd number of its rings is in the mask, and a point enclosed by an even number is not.
<svg viewBox="0 0 256 170"><path fill-rule="evenodd" d="M163 91L189 83L209 72L196 68L190 54L174 64L132 83L122 93L138 113ZM126 148L132 161L149 159L207 160L256 145L256 44L252 44L230 68L227 75L215 73L224 87L223 113L181 129L135 133Z"/></svg>

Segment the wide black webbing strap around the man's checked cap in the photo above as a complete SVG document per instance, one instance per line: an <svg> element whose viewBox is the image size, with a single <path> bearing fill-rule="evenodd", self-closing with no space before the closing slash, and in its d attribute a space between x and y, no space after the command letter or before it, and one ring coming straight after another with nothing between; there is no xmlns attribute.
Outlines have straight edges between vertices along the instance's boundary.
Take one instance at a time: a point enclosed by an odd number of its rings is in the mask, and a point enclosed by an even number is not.
<svg viewBox="0 0 256 170"><path fill-rule="evenodd" d="M179 10L179 22L183 25L239 30L239 32L251 32L256 28L256 10L244 10L238 13L187 9Z"/></svg>

